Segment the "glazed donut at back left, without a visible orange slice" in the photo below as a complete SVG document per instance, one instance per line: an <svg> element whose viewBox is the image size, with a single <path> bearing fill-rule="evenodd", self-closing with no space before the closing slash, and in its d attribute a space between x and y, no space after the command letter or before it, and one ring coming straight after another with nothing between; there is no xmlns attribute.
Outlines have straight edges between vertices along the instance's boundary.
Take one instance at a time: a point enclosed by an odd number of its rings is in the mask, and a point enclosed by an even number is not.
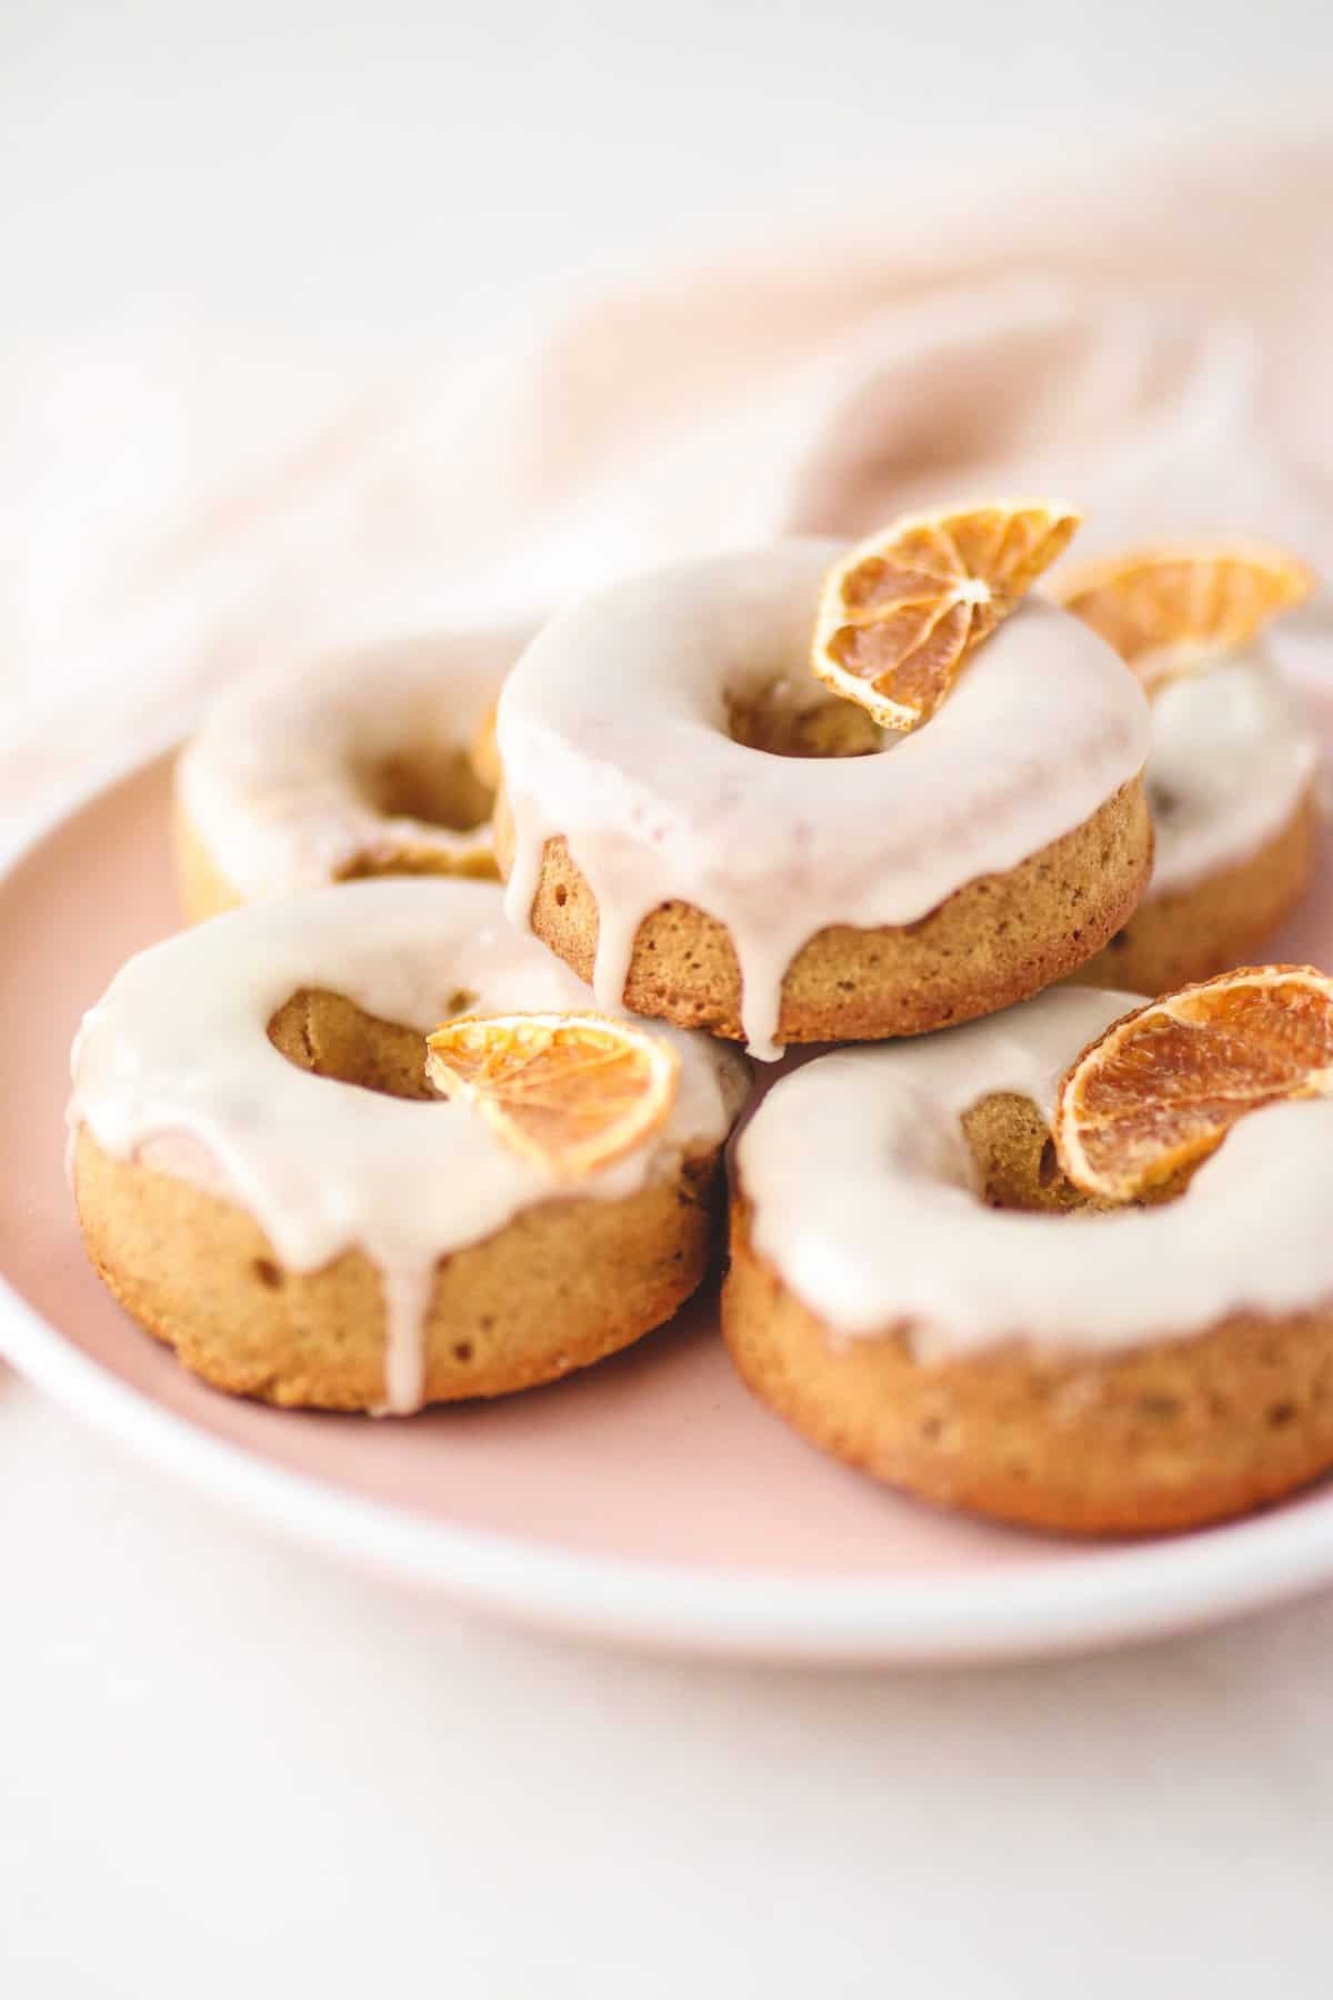
<svg viewBox="0 0 1333 2000"><path fill-rule="evenodd" d="M494 880L488 724L524 636L400 640L226 694L176 768L186 914L370 874Z"/></svg>

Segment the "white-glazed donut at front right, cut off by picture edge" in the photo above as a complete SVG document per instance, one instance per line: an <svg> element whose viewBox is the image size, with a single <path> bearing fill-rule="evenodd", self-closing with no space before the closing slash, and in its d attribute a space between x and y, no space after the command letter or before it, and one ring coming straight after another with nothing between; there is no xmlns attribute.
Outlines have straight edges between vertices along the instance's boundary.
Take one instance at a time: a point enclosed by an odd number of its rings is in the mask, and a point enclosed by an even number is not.
<svg viewBox="0 0 1333 2000"><path fill-rule="evenodd" d="M1175 1200L1075 1212L1055 1086L1125 1004L1057 988L767 1094L723 1332L809 1442L1075 1534L1219 1520L1333 1464L1333 1102L1235 1124Z"/></svg>

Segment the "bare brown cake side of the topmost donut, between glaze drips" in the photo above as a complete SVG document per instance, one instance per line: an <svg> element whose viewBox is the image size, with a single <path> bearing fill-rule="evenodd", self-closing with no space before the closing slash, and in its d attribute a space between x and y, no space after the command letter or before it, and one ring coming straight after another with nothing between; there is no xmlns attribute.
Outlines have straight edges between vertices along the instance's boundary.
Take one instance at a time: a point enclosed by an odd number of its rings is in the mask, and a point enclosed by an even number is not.
<svg viewBox="0 0 1333 2000"><path fill-rule="evenodd" d="M1023 1000L1083 966L1135 910L1151 868L1141 778L1073 832L1005 874L955 890L915 924L831 924L797 952L781 982L779 1042L853 1042L925 1034ZM502 872L510 814L496 814ZM592 980L598 904L568 842L546 844L532 930ZM667 902L640 924L624 1004L683 1028L743 1038L741 974L723 924Z"/></svg>

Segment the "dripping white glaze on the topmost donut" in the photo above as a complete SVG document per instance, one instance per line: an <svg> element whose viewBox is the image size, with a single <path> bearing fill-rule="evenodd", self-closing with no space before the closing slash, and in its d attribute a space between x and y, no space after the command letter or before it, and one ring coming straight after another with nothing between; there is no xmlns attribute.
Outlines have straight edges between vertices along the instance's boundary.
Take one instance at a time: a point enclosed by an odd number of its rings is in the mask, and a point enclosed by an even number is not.
<svg viewBox="0 0 1333 2000"><path fill-rule="evenodd" d="M1147 756L1147 704L1093 632L1029 600L925 728L879 756L777 758L727 734L727 694L809 670L835 542L779 542L618 584L556 618L500 702L514 806L508 912L528 924L548 838L598 900L596 992L683 898L727 926L751 1054L773 1058L781 976L827 924L911 924L1087 820Z"/></svg>

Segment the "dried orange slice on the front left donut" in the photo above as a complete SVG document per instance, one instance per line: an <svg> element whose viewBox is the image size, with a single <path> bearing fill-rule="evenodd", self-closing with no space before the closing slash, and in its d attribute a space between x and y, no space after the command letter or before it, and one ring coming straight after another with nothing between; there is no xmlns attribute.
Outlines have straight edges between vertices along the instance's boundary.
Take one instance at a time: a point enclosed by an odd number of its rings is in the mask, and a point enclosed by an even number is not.
<svg viewBox="0 0 1333 2000"><path fill-rule="evenodd" d="M656 1132L679 1080L669 1042L606 1014L466 1014L426 1046L442 1096L476 1106L506 1146L562 1178Z"/></svg>

